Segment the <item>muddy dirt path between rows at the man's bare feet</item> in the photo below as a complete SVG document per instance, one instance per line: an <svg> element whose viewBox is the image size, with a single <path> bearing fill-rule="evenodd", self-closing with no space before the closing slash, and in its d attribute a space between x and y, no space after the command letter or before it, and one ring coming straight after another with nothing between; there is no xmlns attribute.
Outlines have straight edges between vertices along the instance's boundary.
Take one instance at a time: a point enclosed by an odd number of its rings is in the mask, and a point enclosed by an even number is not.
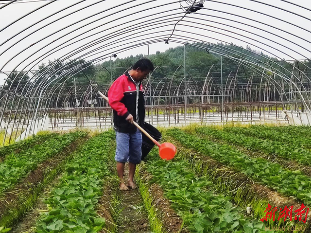
<svg viewBox="0 0 311 233"><path fill-rule="evenodd" d="M128 168L125 167L124 179L128 177ZM118 219L118 233L148 233L150 225L148 214L144 209L143 200L138 188L129 191L119 191L121 210Z"/></svg>

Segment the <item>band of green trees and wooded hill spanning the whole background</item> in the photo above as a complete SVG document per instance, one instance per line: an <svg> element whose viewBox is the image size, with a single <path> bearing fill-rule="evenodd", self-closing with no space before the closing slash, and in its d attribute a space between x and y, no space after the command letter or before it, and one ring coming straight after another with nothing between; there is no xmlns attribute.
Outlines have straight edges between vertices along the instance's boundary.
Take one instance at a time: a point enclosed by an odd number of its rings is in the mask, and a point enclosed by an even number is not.
<svg viewBox="0 0 311 233"><path fill-rule="evenodd" d="M191 78L194 80L202 80L207 76L207 73L210 71L216 77L220 76L220 55L215 54L222 53L227 54L233 58L243 59L258 63L255 68L250 68L249 66L243 65L243 67L239 68L240 63L228 58L227 56L223 56L223 75L224 77L234 77L239 76L238 82L245 83L247 79L254 74L254 71L258 71L255 73L253 80L255 82L260 81L261 72L263 71L262 67L267 67L267 64L274 68L273 72L278 73L280 75L291 76L291 72L293 71L293 61L285 62L276 57L270 57L262 52L251 49L248 45L244 49L241 46L237 46L234 44L206 44L206 43L193 43L186 44L186 70L187 74L190 73ZM118 78L126 69L130 68L138 59L142 57L147 57L145 54L138 54L136 56L128 56L125 58L117 58L112 61L112 80ZM155 67L160 66L160 69L157 69L153 73L153 79L162 79L167 76L168 79L174 75L174 80L181 81L184 77L184 47L177 46L175 48L170 48L163 53L157 51L155 54L151 54L149 56L150 60L154 63ZM74 68L76 65L79 65L79 69ZM211 66L214 65L212 69ZM302 61L299 63L299 69L301 71L305 71L307 75L311 73L311 60ZM179 68L179 69L177 69ZM269 68L269 67L268 67ZM110 83L110 60L104 61L103 63L91 64L91 62L86 62L83 59L70 60L69 62L61 62L60 60L49 61L48 64L42 63L39 66L40 71L35 75L40 77L37 79L37 84L40 81L44 80L46 77L57 78L61 77L61 82L65 82L68 86L72 85L73 78L80 84L85 84L86 86L90 81L99 82L101 84ZM269 68L270 69L270 68ZM237 73L241 72L241 74ZM267 75L274 75L273 72L265 70ZM307 78L301 75L299 71L294 71L297 77L301 77L302 82L306 82ZM13 81L14 77L17 76L17 79ZM31 75L32 76L32 75ZM69 76L71 78L66 80ZM21 78L22 77L22 78ZM7 79L7 87L6 90L9 89L9 86L13 83L13 90L17 87L17 84L20 82L21 87L18 88L17 92L21 92L22 87L25 87L28 80L31 77L29 74L21 72L17 75L17 72L12 72L12 74ZM50 79L50 78L49 78ZM56 79L54 82L60 81L60 79ZM46 79L45 79L46 80ZM66 81L65 81L66 80ZM219 78L218 78L219 80ZM280 80L278 78L276 81ZM216 81L218 82L218 81ZM71 83L71 84L70 84ZM12 90L12 89L11 89Z"/></svg>

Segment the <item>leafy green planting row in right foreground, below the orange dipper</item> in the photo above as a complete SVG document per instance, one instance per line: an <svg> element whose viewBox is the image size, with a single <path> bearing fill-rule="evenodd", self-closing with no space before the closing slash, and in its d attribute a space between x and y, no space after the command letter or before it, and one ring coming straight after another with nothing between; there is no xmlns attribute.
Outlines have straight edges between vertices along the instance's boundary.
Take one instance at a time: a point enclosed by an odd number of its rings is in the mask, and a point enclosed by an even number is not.
<svg viewBox="0 0 311 233"><path fill-rule="evenodd" d="M152 175L149 182L162 187L190 232L266 232L262 222L242 215L230 197L208 191L211 182L205 177L196 177L185 162L159 160L157 152L149 157L145 164Z"/></svg>

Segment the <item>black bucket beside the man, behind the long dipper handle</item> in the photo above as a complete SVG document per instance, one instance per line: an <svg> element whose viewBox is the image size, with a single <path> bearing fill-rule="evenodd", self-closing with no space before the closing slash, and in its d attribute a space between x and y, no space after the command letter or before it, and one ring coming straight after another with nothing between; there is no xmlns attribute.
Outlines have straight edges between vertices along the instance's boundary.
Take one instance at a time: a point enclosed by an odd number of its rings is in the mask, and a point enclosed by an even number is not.
<svg viewBox="0 0 311 233"><path fill-rule="evenodd" d="M149 133L151 137L153 137L156 141L161 140L162 134L154 126L145 122L142 128L146 130L146 132ZM153 143L144 133L141 133L141 136L142 136L141 160L143 160L151 151L151 149L155 146L155 143Z"/></svg>

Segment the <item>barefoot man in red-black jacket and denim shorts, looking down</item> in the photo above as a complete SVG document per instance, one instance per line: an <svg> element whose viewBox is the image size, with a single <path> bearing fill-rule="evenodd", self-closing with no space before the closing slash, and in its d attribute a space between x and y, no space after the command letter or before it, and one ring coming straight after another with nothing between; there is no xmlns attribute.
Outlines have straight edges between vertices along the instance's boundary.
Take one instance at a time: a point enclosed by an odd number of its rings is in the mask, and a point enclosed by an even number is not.
<svg viewBox="0 0 311 233"><path fill-rule="evenodd" d="M133 121L143 125L145 118L144 96L141 81L154 70L148 59L137 61L132 70L125 72L111 85L108 91L109 105L113 109L117 149L115 160L120 178L120 190L135 189L136 164L141 161L141 132ZM128 161L128 186L123 180L124 165Z"/></svg>

